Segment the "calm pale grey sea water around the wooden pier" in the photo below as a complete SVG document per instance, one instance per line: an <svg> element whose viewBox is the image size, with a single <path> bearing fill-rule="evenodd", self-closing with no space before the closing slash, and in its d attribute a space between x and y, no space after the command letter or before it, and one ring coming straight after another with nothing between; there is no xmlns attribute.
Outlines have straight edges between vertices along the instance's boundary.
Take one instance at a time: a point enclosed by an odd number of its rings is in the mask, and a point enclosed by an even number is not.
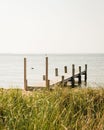
<svg viewBox="0 0 104 130"><path fill-rule="evenodd" d="M59 75L64 74L64 66L68 67L71 75L71 66L75 64L84 70L88 65L88 83L104 84L104 54L49 54L49 79L55 78L54 69L59 69ZM40 83L45 74L45 55L0 55L0 87L23 88L23 59L27 58L27 79L29 84ZM34 69L31 69L31 68Z"/></svg>

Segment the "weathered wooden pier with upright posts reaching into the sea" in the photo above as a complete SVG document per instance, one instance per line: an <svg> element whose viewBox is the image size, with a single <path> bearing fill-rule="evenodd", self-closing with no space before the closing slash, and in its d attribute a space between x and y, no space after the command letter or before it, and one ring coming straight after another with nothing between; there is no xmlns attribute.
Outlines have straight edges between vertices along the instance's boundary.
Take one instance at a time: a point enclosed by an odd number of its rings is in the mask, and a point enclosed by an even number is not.
<svg viewBox="0 0 104 130"><path fill-rule="evenodd" d="M79 66L79 72L75 73L75 65L72 64L72 75L67 78L65 78L64 75L61 76L61 80L57 81L55 83L50 83L50 80L48 78L48 57L45 58L45 75L43 75L43 80L45 81L45 86L29 86L28 85L28 80L27 80L27 61L26 58L24 58L24 89L26 91L28 90L34 90L34 89L39 89L39 88L47 88L50 89L56 85L60 86L71 86L75 87L81 86L82 82L87 85L87 64L85 64L85 69L84 71L81 71L81 66ZM67 66L64 66L64 73L67 73ZM55 76L58 76L58 68L55 68ZM84 80L82 81L82 76L84 76ZM76 82L77 79L77 82ZM69 85L68 85L69 84Z"/></svg>

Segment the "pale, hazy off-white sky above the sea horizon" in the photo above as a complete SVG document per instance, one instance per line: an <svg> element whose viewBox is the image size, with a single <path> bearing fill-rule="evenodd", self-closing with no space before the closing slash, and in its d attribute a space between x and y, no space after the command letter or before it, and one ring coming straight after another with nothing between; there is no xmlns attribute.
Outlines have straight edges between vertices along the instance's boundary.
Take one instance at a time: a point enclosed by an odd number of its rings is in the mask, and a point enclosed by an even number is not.
<svg viewBox="0 0 104 130"><path fill-rule="evenodd" d="M104 53L104 0L0 0L0 53Z"/></svg>

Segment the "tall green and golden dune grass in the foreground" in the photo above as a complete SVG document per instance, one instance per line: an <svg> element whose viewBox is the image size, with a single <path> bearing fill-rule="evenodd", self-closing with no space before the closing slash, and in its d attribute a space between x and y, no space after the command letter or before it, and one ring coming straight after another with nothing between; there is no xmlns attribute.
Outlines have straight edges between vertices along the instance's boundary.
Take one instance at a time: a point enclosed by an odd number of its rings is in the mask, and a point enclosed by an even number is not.
<svg viewBox="0 0 104 130"><path fill-rule="evenodd" d="M104 89L0 89L0 130L104 130Z"/></svg>

